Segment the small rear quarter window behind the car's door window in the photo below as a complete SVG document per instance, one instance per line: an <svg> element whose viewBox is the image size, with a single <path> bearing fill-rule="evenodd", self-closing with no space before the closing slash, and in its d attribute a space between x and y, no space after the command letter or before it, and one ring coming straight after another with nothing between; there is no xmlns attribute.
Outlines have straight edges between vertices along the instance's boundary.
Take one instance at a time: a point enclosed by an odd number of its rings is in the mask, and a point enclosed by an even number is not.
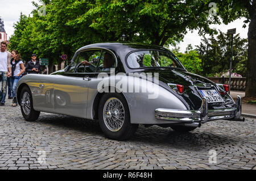
<svg viewBox="0 0 256 181"><path fill-rule="evenodd" d="M114 55L106 50L102 52L100 62L98 64L98 72L110 72L110 69L116 67L116 61Z"/></svg>

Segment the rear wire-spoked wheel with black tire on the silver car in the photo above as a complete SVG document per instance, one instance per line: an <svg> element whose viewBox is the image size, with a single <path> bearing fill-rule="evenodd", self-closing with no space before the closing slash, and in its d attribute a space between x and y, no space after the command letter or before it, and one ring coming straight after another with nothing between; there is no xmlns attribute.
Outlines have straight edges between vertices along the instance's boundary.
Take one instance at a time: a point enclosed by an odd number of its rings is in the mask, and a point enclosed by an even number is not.
<svg viewBox="0 0 256 181"><path fill-rule="evenodd" d="M118 93L102 96L98 108L98 119L106 137L113 140L127 140L138 128L137 124L131 124L128 104Z"/></svg>

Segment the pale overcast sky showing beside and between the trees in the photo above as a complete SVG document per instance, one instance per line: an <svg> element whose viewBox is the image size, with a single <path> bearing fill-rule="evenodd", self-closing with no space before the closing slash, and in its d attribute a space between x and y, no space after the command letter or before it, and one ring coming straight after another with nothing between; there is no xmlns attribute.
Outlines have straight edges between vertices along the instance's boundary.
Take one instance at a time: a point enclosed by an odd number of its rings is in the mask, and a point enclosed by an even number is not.
<svg viewBox="0 0 256 181"><path fill-rule="evenodd" d="M34 0L34 2L39 3L39 0ZM39 3L40 5L41 3ZM32 0L0 0L0 16L4 20L5 31L7 33L8 39L14 32L14 23L18 22L20 12L24 15L29 15L34 9L32 5ZM243 20L237 19L236 21L229 23L228 25L212 25L211 28L216 28L222 32L227 32L228 29L237 28L237 33L240 33L242 38L247 38L248 25L246 28L242 28ZM183 42L178 46L180 47L181 52L185 52L185 49L188 44L191 44L193 48L196 48L195 45L200 45L202 37L198 35L198 31L189 32L184 36ZM170 47L172 49L173 47Z"/></svg>

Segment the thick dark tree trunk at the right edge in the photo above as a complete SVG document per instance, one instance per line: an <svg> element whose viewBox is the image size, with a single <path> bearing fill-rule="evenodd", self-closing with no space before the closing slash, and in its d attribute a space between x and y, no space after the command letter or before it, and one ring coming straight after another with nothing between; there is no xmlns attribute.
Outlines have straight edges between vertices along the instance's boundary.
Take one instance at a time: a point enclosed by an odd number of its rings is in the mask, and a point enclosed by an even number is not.
<svg viewBox="0 0 256 181"><path fill-rule="evenodd" d="M256 12L250 18L245 96L256 98Z"/></svg>

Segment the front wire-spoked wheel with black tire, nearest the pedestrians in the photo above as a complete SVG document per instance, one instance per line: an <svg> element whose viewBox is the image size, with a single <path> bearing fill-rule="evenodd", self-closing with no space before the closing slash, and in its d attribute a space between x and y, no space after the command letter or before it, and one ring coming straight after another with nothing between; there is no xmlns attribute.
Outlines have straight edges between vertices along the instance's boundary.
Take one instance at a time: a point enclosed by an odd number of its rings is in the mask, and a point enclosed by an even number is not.
<svg viewBox="0 0 256 181"><path fill-rule="evenodd" d="M38 119L40 112L34 110L32 94L27 86L22 88L19 102L24 119L27 121L35 121Z"/></svg>

